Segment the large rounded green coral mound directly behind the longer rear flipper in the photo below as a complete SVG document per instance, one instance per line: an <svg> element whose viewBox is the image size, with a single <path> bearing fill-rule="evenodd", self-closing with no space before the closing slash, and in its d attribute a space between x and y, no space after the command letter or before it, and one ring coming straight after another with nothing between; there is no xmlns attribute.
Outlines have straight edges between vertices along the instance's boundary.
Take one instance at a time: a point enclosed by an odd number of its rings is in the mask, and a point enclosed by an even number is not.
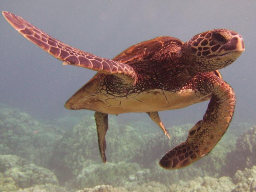
<svg viewBox="0 0 256 192"><path fill-rule="evenodd" d="M113 118L109 119L109 127L106 135L107 161L129 162L134 152L145 144L142 135L138 133L140 130L118 125ZM60 182L81 174L81 170L89 165L100 164L103 167L94 118L86 117L80 121L62 137L54 151L50 168L60 178Z"/></svg>

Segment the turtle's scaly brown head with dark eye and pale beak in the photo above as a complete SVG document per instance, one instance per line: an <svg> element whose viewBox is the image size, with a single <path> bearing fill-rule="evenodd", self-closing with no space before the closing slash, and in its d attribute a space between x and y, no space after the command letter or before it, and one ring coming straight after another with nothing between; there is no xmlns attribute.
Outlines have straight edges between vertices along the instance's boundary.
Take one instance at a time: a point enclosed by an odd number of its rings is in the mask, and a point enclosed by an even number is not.
<svg viewBox="0 0 256 192"><path fill-rule="evenodd" d="M199 72L230 65L244 51L241 35L227 29L214 29L195 35L185 43L186 60Z"/></svg>

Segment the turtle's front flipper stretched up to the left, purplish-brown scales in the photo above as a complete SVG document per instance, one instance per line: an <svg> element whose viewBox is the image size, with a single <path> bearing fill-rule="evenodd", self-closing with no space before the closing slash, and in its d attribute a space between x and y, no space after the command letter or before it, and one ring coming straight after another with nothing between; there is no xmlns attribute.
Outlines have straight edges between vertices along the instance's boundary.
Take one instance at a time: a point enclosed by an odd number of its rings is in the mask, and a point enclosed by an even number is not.
<svg viewBox="0 0 256 192"><path fill-rule="evenodd" d="M93 54L76 49L51 37L17 15L5 11L2 13L5 19L21 35L38 45L53 57L63 61L63 65L75 65L98 71L100 73L117 75L124 80L126 85L133 84L136 80L136 73L131 66L110 59L100 58Z"/></svg>

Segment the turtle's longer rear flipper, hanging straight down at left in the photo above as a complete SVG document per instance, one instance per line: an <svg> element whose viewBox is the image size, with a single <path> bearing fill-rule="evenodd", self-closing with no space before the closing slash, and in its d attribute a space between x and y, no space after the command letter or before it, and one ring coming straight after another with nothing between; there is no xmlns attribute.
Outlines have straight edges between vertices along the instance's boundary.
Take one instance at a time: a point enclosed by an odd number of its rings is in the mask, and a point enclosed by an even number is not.
<svg viewBox="0 0 256 192"><path fill-rule="evenodd" d="M95 112L94 117L95 117L96 127L97 127L100 156L103 163L106 163L107 158L106 158L105 150L107 145L106 145L105 136L108 131L108 114Z"/></svg>

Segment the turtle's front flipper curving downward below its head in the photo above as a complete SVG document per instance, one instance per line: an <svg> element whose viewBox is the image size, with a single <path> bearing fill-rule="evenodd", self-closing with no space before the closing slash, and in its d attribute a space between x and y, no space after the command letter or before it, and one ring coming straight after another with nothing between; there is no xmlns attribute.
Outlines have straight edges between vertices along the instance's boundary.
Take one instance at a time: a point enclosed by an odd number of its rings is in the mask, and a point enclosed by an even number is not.
<svg viewBox="0 0 256 192"><path fill-rule="evenodd" d="M224 81L214 82L213 94L203 120L192 127L185 142L167 152L159 165L176 169L207 155L226 132L235 110L235 93Z"/></svg>

